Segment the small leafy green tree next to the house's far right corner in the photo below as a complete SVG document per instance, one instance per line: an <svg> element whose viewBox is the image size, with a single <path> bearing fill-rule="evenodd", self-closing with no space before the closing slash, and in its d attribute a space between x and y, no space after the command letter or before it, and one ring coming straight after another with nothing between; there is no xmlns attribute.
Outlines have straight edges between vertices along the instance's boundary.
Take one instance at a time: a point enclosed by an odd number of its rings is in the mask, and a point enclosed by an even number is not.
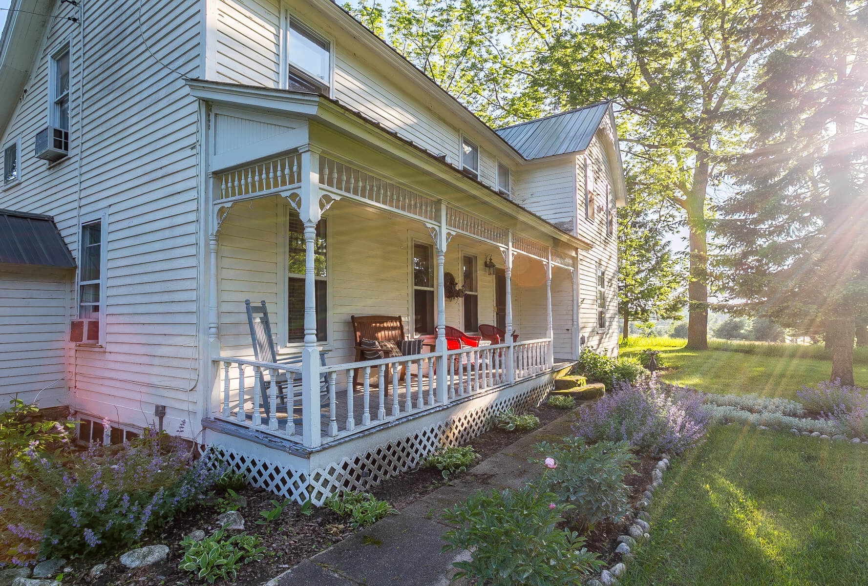
<svg viewBox="0 0 868 586"><path fill-rule="evenodd" d="M628 168L627 205L618 210L618 313L624 339L631 321L681 319L685 267L667 241L675 223L672 208L648 177Z"/></svg>

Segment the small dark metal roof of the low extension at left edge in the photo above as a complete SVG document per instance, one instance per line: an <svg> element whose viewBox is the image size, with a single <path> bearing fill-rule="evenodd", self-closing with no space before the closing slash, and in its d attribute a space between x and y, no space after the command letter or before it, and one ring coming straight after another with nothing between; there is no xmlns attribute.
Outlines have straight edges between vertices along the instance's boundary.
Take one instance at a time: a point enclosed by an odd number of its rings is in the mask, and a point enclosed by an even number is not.
<svg viewBox="0 0 868 586"><path fill-rule="evenodd" d="M0 265L75 268L76 260L49 215L0 209Z"/></svg>

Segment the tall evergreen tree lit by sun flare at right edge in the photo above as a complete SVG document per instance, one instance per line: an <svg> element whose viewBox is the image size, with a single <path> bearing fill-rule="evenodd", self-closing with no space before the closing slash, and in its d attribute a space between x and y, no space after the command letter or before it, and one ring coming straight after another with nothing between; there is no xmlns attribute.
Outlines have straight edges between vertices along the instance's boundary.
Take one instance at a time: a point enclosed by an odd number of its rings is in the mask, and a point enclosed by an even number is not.
<svg viewBox="0 0 868 586"><path fill-rule="evenodd" d="M853 384L868 316L868 0L801 0L765 65L746 188L722 207L729 284L741 310L825 332L831 379Z"/></svg>

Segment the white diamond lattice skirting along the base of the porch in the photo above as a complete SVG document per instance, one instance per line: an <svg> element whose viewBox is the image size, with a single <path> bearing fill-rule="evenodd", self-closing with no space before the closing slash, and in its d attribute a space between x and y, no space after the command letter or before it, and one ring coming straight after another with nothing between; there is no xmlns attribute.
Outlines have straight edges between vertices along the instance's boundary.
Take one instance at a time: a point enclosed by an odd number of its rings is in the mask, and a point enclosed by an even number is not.
<svg viewBox="0 0 868 586"><path fill-rule="evenodd" d="M291 457L276 449L262 449L262 446L247 449L243 439L229 438L225 434L219 434L219 438L209 443L235 470L247 474L249 484L296 503L310 498L313 504L319 505L334 492L366 490L386 478L411 470L440 446L464 444L476 438L490 429L496 413L509 407L523 412L542 405L553 386L549 373L476 395L442 412L324 446L323 450L312 453L309 460ZM437 416L441 420L431 423L432 417ZM351 456L345 456L348 451L352 452Z"/></svg>

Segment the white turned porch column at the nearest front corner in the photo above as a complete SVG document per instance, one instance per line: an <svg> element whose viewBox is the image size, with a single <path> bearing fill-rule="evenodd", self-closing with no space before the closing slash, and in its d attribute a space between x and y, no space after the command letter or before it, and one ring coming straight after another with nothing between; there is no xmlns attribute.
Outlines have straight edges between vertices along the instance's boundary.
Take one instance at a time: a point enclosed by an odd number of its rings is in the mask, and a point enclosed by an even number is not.
<svg viewBox="0 0 868 586"><path fill-rule="evenodd" d="M313 245L319 221L319 155L301 150L299 219L305 226L305 347L301 351L302 441L315 448L322 443L319 430L319 348L317 297L313 272ZM292 417L290 413L289 417Z"/></svg>

